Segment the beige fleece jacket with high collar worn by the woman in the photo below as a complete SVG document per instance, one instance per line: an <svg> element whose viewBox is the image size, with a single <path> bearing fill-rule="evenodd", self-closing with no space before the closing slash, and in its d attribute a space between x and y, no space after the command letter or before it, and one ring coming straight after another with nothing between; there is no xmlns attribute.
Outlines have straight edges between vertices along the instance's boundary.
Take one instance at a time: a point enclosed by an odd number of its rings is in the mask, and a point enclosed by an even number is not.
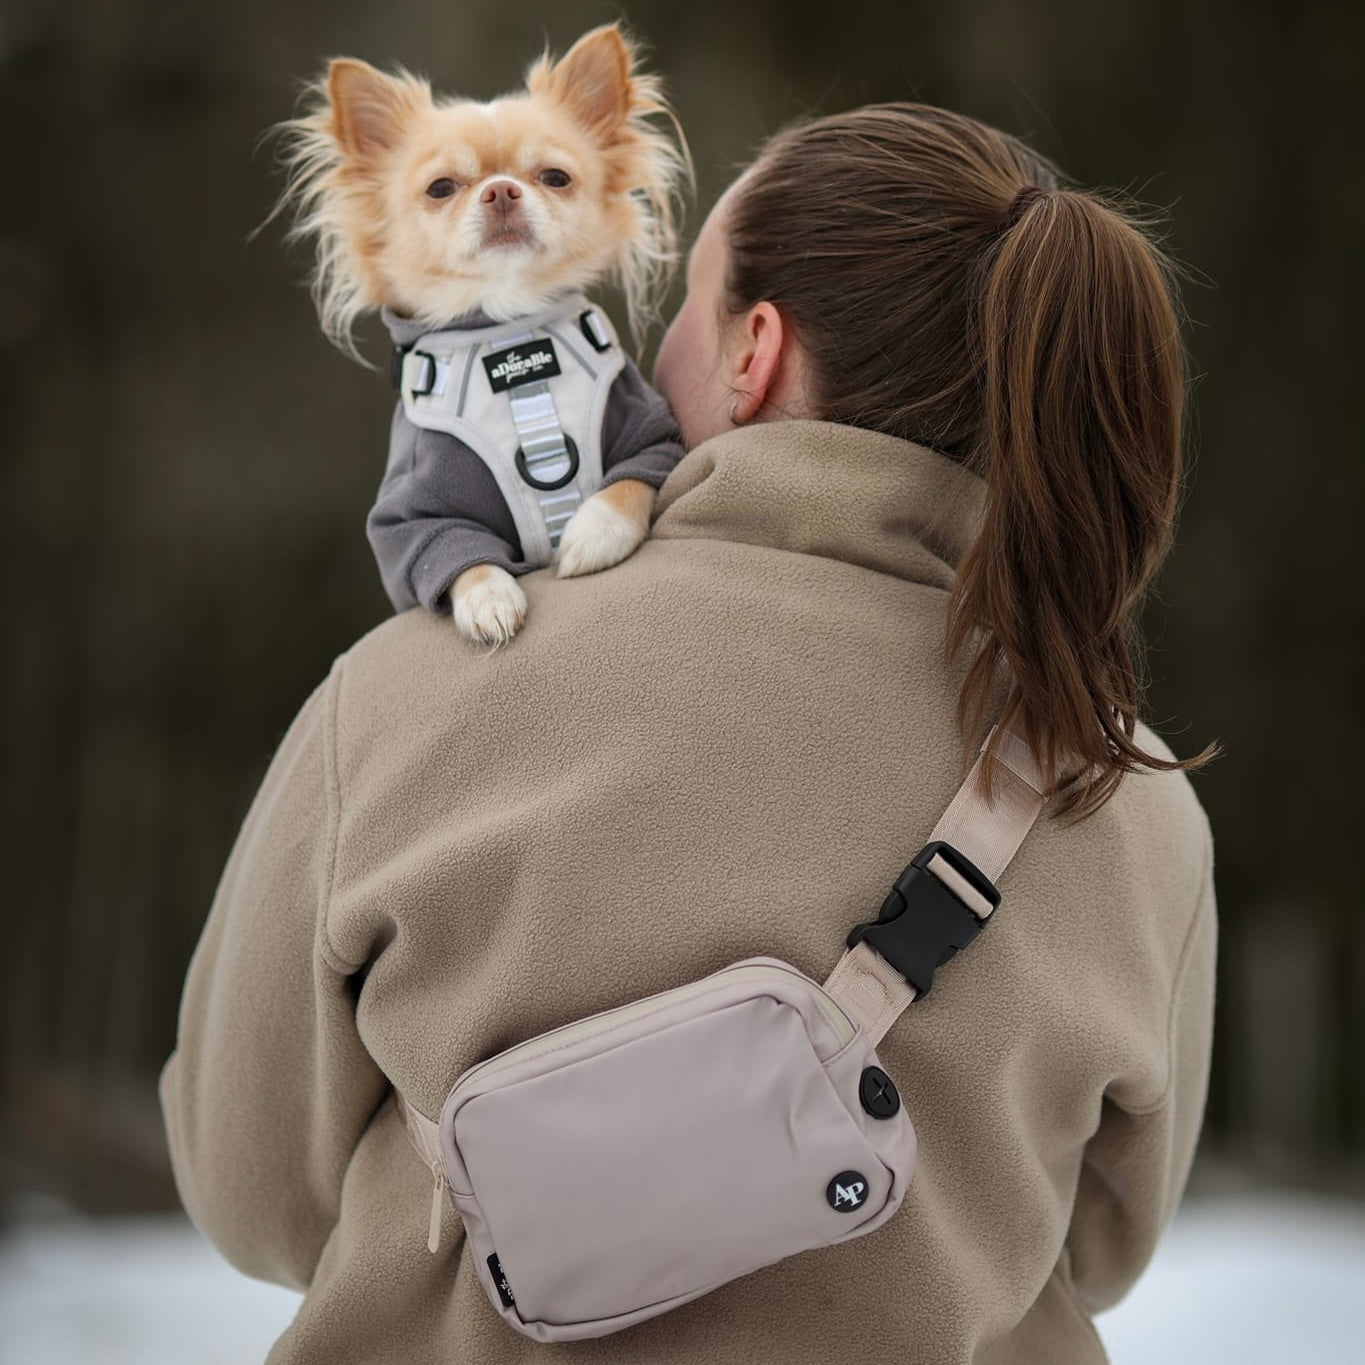
<svg viewBox="0 0 1365 1365"><path fill-rule="evenodd" d="M449 1205L427 1252L431 1175L385 1103L437 1115L474 1062L743 957L827 976L960 781L945 606L983 497L854 427L729 431L624 564L520 579L511 646L412 610L337 659L247 812L161 1078L190 1216L304 1291L270 1361L1104 1360L1088 1314L1152 1254L1205 1099L1212 844L1181 774L1044 812L988 932L879 1044L919 1166L865 1237L536 1343Z"/></svg>

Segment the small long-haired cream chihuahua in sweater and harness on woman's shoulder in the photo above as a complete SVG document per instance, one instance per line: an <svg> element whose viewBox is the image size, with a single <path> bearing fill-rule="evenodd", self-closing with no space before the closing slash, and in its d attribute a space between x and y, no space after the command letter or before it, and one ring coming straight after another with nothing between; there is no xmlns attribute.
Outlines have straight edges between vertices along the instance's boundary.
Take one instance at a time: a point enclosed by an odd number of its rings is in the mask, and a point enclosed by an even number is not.
<svg viewBox="0 0 1365 1365"><path fill-rule="evenodd" d="M633 553L682 457L666 401L583 296L614 280L640 344L677 259L674 195L695 183L661 82L636 61L606 25L485 104L336 59L311 108L280 126L274 212L293 206L291 240L315 239L324 332L360 359L352 325L379 310L396 345L400 400L367 519L385 587L399 610L449 610L478 643L521 628L520 573ZM573 511L551 516L554 502Z"/></svg>

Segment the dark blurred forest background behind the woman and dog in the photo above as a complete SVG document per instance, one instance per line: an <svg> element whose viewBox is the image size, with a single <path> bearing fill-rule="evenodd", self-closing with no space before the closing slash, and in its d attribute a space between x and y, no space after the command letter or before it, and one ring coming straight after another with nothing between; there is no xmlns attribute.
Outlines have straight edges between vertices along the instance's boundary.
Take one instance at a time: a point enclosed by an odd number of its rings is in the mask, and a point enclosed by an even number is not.
<svg viewBox="0 0 1365 1365"><path fill-rule="evenodd" d="M276 743L389 612L363 521L390 390L324 341L283 227L247 242L280 183L258 139L332 55L490 98L616 18L691 139L688 240L766 134L876 100L983 117L1170 210L1198 378L1148 717L1181 755L1226 745L1196 777L1223 935L1196 1179L1365 1194L1362 14L7 0L5 1203L173 1205L154 1081L186 962Z"/></svg>

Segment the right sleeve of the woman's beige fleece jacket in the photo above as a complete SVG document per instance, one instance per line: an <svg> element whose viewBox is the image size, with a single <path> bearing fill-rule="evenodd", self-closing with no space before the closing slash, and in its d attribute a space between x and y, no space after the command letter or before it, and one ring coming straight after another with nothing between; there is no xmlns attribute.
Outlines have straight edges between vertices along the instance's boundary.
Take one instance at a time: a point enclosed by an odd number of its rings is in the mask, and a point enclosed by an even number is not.
<svg viewBox="0 0 1365 1365"><path fill-rule="evenodd" d="M1216 949L1209 842L1171 992L1164 1092L1140 1111L1106 1096L1085 1147L1066 1248L1076 1297L1091 1313L1111 1308L1133 1287L1189 1178L1208 1093Z"/></svg>

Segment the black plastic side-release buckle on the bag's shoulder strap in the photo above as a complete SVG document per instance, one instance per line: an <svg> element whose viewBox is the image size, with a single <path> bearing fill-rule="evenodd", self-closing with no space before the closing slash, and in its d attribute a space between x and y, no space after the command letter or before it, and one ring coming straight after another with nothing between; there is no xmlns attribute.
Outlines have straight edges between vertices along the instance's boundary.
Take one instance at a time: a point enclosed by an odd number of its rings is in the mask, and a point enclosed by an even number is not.
<svg viewBox="0 0 1365 1365"><path fill-rule="evenodd" d="M980 891L992 910L1001 904L995 883L975 863L951 844L935 839L895 879L878 917L856 924L848 936L849 947L867 939L920 995L928 995L935 969L966 947L986 925L942 878L928 871L935 854Z"/></svg>

